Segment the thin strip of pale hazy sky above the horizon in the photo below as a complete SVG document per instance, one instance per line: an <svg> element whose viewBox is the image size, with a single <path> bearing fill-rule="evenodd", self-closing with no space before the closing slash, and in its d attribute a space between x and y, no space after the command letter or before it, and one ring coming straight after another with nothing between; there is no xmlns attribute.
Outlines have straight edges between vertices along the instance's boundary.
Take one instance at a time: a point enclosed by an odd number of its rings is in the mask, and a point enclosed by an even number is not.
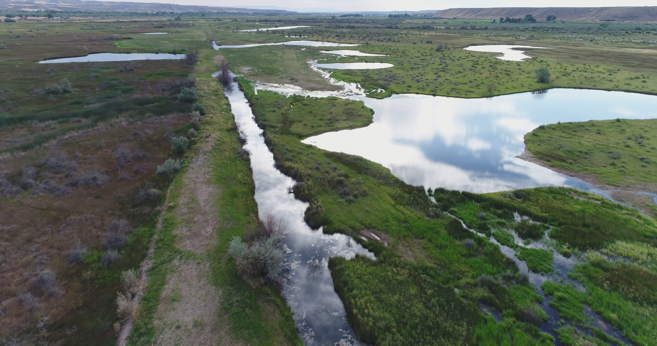
<svg viewBox="0 0 657 346"><path fill-rule="evenodd" d="M178 5L261 6L308 8L323 7L340 11L419 11L442 10L454 7L604 7L654 6L655 0L553 0L549 3L530 3L526 0L127 0L145 3L175 3Z"/></svg>

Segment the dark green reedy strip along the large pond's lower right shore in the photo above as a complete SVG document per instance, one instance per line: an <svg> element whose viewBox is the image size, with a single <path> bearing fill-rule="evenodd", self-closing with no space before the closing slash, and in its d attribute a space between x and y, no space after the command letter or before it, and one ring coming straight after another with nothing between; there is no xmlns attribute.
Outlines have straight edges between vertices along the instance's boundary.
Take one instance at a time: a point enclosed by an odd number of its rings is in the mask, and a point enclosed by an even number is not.
<svg viewBox="0 0 657 346"><path fill-rule="evenodd" d="M549 237L561 246L600 249L617 240L656 245L657 225L651 217L637 209L569 188L533 188L481 195L437 189L434 196L441 209L452 208L468 227L478 227L482 222L491 228L498 226L498 219L480 221L470 216L478 211L501 219L508 219L509 213L518 211L533 221L552 225ZM475 204L473 200L479 204L476 208L470 207Z"/></svg>

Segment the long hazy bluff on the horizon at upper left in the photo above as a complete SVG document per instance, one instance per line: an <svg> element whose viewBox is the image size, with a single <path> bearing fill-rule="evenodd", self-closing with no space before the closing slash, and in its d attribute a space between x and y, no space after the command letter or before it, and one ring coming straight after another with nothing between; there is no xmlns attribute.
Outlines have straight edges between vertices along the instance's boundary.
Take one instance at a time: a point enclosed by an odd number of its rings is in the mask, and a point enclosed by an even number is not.
<svg viewBox="0 0 657 346"><path fill-rule="evenodd" d="M83 0L0 0L2 11L129 11L129 12L247 12L280 13L296 12L277 9L240 9L235 7L212 7L195 5L174 5L170 3L128 3L118 1Z"/></svg>

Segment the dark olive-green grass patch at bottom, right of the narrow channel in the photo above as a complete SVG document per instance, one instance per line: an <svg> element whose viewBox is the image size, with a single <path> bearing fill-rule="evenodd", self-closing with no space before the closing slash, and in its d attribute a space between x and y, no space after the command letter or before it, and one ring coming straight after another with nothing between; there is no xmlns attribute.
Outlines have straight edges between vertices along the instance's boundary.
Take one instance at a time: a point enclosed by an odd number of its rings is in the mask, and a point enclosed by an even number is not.
<svg viewBox="0 0 657 346"><path fill-rule="evenodd" d="M329 268L359 339L376 345L474 343L471 328L483 319L478 309L422 274L427 269L367 257L332 257Z"/></svg>

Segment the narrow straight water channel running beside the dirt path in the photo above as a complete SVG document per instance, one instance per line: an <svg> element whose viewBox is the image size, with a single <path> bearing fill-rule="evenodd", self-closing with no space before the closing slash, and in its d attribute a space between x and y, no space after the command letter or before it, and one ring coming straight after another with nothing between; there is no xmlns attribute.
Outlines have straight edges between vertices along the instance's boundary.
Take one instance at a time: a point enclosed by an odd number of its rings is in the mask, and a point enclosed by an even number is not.
<svg viewBox="0 0 657 346"><path fill-rule="evenodd" d="M353 257L356 253L374 255L344 234L323 234L321 228L312 230L304 221L307 203L288 193L294 181L274 167L273 154L262 137L262 130L254 121L252 110L244 94L233 82L233 91L226 93L235 122L246 137L244 148L251 152L251 168L256 184L258 213L267 213L289 223L292 232L286 241L290 249L288 264L292 277L283 288L283 295L294 311L294 320L306 345L353 345L353 330L347 322L344 305L333 289L328 270L328 258Z"/></svg>

